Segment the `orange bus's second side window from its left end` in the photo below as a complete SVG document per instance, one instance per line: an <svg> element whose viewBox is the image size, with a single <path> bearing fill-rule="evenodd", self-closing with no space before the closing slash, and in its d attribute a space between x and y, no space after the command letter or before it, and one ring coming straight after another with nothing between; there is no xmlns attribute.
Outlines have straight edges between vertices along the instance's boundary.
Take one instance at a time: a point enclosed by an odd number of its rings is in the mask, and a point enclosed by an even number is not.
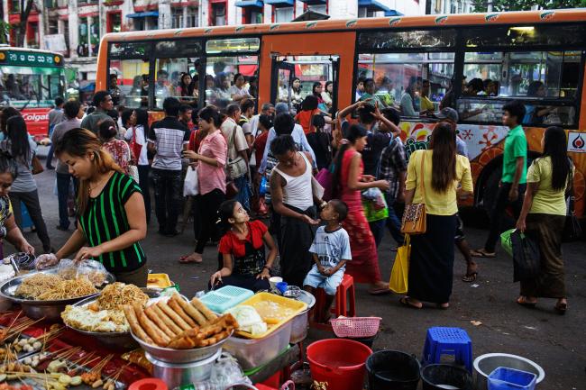
<svg viewBox="0 0 586 390"><path fill-rule="evenodd" d="M185 104L197 105L198 59L157 59L155 62L155 107L163 108L169 96Z"/></svg>

